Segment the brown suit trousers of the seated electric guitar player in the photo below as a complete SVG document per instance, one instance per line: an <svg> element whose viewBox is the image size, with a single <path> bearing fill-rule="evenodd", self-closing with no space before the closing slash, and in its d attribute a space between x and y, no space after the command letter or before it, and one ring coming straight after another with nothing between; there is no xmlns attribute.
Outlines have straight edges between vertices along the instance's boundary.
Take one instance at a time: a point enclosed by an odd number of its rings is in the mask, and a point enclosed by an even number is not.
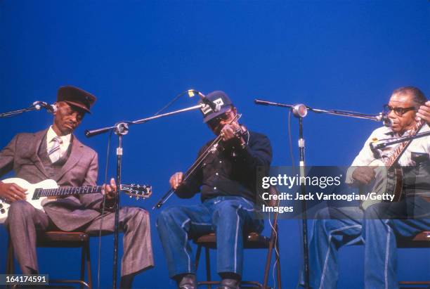
<svg viewBox="0 0 430 289"><path fill-rule="evenodd" d="M98 236L101 222L100 214L100 217L78 231ZM113 233L114 222L114 213L105 214L102 232ZM36 252L37 233L56 229L48 214L35 209L25 200L15 201L9 208L6 225L22 273L32 274L39 271ZM154 266L148 212L136 207L122 207L119 210L119 229L124 232L121 276L138 274Z"/></svg>

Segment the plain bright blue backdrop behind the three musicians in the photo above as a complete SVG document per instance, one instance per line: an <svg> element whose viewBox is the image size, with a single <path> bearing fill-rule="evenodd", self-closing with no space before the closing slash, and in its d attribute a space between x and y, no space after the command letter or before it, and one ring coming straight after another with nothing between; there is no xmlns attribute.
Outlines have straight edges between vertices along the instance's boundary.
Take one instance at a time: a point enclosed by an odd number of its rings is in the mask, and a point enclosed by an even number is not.
<svg viewBox="0 0 430 289"><path fill-rule="evenodd" d="M377 113L398 86L418 86L429 96L430 3L2 0L0 63L1 112L36 100L52 103L64 84L98 96L93 115L76 135L98 151L100 183L107 136L85 139L84 130L150 116L190 88L226 91L243 113L242 122L271 139L273 165L291 165L287 110L254 105L254 98ZM171 110L196 101L184 96ZM1 119L0 146L51 122L43 111ZM348 165L379 124L311 114L304 126L309 165ZM292 136L296 153L296 120ZM152 184L154 194L145 201L123 196L122 205L150 210L168 189L169 176L185 170L210 138L197 111L133 127L124 139L123 179ZM172 198L167 205L197 202L198 197ZM172 288L154 226L158 212L150 212L156 267L135 284ZM7 234L0 230L3 272ZM97 243L91 240L93 272ZM111 252L112 236L103 237L101 288L112 282ZM280 252L282 287L293 288L301 264L297 221L280 222ZM363 288L363 252L360 246L341 250L339 288ZM264 257L247 252L245 278L262 277ZM76 250L39 250L39 262L51 278L79 275ZM428 279L429 268L429 250L399 250L400 278Z"/></svg>

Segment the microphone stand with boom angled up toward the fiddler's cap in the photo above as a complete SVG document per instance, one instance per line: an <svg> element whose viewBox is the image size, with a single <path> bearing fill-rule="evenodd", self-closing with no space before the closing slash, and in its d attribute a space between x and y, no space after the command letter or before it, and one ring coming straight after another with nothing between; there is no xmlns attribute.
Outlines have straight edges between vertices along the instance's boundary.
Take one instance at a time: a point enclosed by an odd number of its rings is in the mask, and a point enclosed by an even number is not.
<svg viewBox="0 0 430 289"><path fill-rule="evenodd" d="M197 110L203 107L203 104L194 105L190 108L183 108L181 110L175 110L170 113L164 113L162 115L155 115L152 117L146 117L141 120L134 120L131 122L118 122L117 124L113 125L112 127L103 127L100 129L92 129L92 130L86 130L85 136L91 137L96 136L98 134L103 134L107 131L110 131L111 129L115 132L115 134L118 136L118 147L117 147L117 186L119 188L119 184L121 184L121 172L122 172L122 155L123 155L123 148L122 148L122 136L129 133L129 126L131 124L143 124L145 122L149 122L150 120L155 120L157 118L161 117L167 117L170 115L176 115L178 113L185 113L186 111L190 110ZM113 282L112 282L112 288L117 288L117 268L118 268L118 233L119 233L119 193L115 196L115 231L114 231L114 259L113 259Z"/></svg>

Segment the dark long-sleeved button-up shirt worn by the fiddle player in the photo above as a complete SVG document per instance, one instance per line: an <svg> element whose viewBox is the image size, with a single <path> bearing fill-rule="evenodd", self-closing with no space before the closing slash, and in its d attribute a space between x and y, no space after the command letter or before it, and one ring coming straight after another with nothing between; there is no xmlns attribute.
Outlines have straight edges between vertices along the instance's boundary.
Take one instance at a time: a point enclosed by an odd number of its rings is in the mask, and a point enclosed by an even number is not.
<svg viewBox="0 0 430 289"><path fill-rule="evenodd" d="M272 161L271 142L267 136L249 131L244 137L245 148L237 145L221 145L212 150L197 171L181 185L176 194L191 198L201 191L201 200L221 195L238 195L256 202L257 169L259 175L268 172ZM197 158L209 146L204 145Z"/></svg>

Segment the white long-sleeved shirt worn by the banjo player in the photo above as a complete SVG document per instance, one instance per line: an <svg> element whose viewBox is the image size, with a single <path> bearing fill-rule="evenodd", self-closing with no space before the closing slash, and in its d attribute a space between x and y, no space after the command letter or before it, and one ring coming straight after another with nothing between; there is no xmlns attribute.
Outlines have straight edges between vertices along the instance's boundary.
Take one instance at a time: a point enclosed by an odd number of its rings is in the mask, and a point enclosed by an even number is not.
<svg viewBox="0 0 430 289"><path fill-rule="evenodd" d="M418 133L430 131L430 127L428 124L424 124L424 126L419 130ZM403 136L408 136L409 131L406 131ZM351 164L351 167L348 169L346 173L346 184L353 184L352 173L356 167L367 166L370 165L372 161L375 160L372 150L370 149L370 143L375 139L380 141L382 139L391 139L392 141L399 137L397 134L394 134L391 128L389 127L379 127L375 129L372 134L370 134L369 138L365 142L363 148L360 150L360 153L356 156ZM391 151L395 150L398 146L398 143L387 146L382 150L382 155L388 155ZM405 152L400 156L398 160L398 164L402 167L414 166L415 162L411 158L412 153L430 153L430 136L423 136L419 139L414 139L411 141L408 148L406 148Z"/></svg>

